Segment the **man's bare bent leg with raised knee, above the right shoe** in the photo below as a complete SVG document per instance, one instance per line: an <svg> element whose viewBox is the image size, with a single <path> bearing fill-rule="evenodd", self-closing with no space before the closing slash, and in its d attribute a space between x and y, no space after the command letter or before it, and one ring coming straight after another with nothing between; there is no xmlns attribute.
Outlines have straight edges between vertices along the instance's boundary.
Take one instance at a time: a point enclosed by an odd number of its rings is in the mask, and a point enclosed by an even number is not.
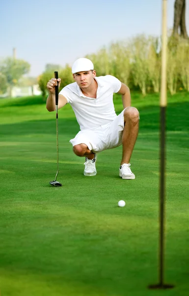
<svg viewBox="0 0 189 296"><path fill-rule="evenodd" d="M135 107L128 107L124 111L124 130L122 135L123 153L121 165L129 163L138 135L139 112Z"/></svg>

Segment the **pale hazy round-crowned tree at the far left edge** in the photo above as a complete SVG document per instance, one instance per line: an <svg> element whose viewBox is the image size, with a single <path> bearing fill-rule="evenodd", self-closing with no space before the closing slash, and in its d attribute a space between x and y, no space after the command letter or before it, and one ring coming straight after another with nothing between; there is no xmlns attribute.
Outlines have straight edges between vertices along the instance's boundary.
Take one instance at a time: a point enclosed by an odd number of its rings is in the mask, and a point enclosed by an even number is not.
<svg viewBox="0 0 189 296"><path fill-rule="evenodd" d="M0 63L0 73L6 78L9 88L9 96L12 94L12 87L17 85L19 79L29 72L30 65L24 60L6 58Z"/></svg>

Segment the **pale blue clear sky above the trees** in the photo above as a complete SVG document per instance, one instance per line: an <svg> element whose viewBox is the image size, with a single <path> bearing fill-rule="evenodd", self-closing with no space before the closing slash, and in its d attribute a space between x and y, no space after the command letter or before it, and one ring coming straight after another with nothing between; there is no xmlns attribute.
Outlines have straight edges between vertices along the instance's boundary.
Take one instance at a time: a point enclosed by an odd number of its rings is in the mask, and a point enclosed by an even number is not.
<svg viewBox="0 0 189 296"><path fill-rule="evenodd" d="M174 1L167 0L167 28L173 28ZM186 1L189 34L189 0ZM0 59L12 56L38 76L46 64L72 66L86 54L138 34L160 36L162 0L0 1Z"/></svg>

